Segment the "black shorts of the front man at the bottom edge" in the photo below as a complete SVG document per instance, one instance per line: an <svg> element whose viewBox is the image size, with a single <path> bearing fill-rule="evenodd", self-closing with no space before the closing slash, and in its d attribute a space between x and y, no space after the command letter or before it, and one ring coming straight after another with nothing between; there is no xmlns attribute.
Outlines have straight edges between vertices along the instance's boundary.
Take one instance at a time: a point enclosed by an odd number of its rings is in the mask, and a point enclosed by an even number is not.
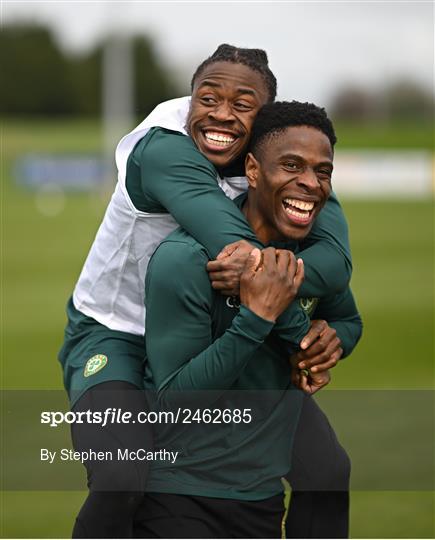
<svg viewBox="0 0 435 540"><path fill-rule="evenodd" d="M134 538L282 538L284 494L240 501L147 493L136 513Z"/></svg>

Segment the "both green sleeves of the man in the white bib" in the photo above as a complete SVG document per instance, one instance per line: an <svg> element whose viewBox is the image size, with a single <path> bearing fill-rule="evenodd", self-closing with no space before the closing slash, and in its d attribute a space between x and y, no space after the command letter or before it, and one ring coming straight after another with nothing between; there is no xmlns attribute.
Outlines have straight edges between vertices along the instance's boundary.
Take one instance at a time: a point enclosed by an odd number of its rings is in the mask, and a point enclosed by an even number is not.
<svg viewBox="0 0 435 540"><path fill-rule="evenodd" d="M210 259L242 238L262 247L220 189L217 175L190 137L153 128L128 159L126 185L138 210L172 214ZM322 298L346 289L352 270L347 223L334 194L301 245L300 256L305 263L301 296Z"/></svg>

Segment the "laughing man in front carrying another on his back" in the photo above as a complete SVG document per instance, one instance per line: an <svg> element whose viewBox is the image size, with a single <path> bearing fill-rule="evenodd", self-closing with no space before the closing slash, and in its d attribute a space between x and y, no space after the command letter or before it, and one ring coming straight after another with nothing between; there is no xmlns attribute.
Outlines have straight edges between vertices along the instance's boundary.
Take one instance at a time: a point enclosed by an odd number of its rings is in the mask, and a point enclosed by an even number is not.
<svg viewBox="0 0 435 540"><path fill-rule="evenodd" d="M236 203L263 245L293 241L297 250L309 233L331 193L335 141L331 122L314 105L273 103L260 111L246 158L248 194ZM290 251L256 248L241 276L240 299L228 301L210 285L208 261L207 250L178 229L148 268L147 381L155 406L200 411L200 425L156 426L156 446L180 456L153 464L137 531L279 537L281 477L290 469L303 401L292 376L308 392L329 382L327 371L301 373L288 360L303 264ZM353 349L361 320L349 289L302 304L330 321L345 355ZM204 410L252 410L253 419L207 428Z"/></svg>

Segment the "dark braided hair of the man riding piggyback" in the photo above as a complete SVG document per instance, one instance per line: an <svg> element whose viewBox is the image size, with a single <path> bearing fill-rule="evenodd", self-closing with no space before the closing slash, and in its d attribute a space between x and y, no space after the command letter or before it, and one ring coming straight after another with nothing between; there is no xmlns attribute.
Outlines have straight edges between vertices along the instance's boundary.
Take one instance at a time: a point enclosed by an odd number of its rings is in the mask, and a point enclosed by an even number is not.
<svg viewBox="0 0 435 540"><path fill-rule="evenodd" d="M223 43L209 56L202 64L200 64L193 74L190 83L191 89L195 84L195 79L204 71L210 64L215 62L231 62L233 64L243 64L256 71L263 78L269 94L269 101L274 101L276 98L276 78L269 69L269 61L267 54L262 49L242 49Z"/></svg>

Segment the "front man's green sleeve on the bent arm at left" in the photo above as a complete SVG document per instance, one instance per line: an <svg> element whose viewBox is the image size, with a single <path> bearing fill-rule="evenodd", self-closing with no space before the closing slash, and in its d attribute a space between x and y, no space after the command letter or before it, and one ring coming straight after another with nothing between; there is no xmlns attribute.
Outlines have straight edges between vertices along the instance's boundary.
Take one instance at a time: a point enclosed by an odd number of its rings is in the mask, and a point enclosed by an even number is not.
<svg viewBox="0 0 435 540"><path fill-rule="evenodd" d="M195 390L230 388L273 328L244 306L212 341L213 291L200 247L165 241L146 276L146 353L162 405L192 402ZM176 271L174 271L176 269Z"/></svg>

